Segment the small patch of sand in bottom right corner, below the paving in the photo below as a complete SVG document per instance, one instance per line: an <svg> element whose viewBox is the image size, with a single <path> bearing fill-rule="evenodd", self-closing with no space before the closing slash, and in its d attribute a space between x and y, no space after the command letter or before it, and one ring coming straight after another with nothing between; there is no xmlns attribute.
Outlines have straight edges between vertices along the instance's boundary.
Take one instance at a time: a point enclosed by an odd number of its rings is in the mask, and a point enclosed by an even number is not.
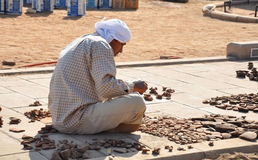
<svg viewBox="0 0 258 160"><path fill-rule="evenodd" d="M210 159L203 159L210 160ZM257 153L224 153L216 160L258 160Z"/></svg>

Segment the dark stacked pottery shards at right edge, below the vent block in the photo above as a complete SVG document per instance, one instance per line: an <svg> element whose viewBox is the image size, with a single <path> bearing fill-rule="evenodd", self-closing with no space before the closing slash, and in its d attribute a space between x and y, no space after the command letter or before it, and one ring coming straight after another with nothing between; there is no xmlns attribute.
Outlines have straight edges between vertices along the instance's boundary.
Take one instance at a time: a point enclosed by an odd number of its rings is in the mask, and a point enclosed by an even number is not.
<svg viewBox="0 0 258 160"><path fill-rule="evenodd" d="M236 75L238 77L249 77L250 80L255 80L258 81L258 71L257 68L254 68L254 64L252 62L248 63L248 69L251 69L251 72L249 73L249 71L241 71L238 70L236 71Z"/></svg>

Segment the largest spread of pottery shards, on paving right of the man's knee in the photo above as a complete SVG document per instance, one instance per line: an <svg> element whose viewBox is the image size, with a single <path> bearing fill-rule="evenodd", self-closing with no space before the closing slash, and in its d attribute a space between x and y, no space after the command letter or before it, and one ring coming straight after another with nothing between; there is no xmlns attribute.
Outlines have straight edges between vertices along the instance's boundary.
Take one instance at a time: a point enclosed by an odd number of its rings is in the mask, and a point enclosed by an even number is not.
<svg viewBox="0 0 258 160"><path fill-rule="evenodd" d="M211 114L189 119L176 119L170 116L143 118L139 131L167 137L175 143L191 144L206 141L242 137L254 141L258 137L258 121L243 117Z"/></svg>

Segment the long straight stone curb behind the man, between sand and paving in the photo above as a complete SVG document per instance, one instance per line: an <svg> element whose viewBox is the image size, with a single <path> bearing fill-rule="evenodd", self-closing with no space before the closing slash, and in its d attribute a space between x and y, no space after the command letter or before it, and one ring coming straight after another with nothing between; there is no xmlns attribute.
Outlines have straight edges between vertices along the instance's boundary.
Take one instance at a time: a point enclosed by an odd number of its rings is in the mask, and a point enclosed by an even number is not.
<svg viewBox="0 0 258 160"><path fill-rule="evenodd" d="M151 65L178 65L190 63L204 63L204 62L222 62L222 61L235 61L236 57L230 56L217 56L217 57L199 57L199 58L183 58L171 60L149 60L149 61L134 61L134 62L118 62L117 68L122 67L148 67ZM0 70L1 75L17 75L27 73L52 73L55 67L37 67L37 68L17 68L17 69L4 69Z"/></svg>

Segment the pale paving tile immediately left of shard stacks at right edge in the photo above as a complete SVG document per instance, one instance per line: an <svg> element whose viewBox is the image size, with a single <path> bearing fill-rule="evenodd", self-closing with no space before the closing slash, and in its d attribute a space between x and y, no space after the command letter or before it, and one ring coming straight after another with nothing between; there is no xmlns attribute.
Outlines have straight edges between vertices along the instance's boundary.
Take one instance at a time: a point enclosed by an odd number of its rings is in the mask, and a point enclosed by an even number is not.
<svg viewBox="0 0 258 160"><path fill-rule="evenodd" d="M203 69L206 71L211 71L211 72L215 72L215 73L220 73L223 75L227 75L227 76L234 76L236 75L236 70L235 69L230 69L230 68L225 68L225 67L221 67L221 66L206 66L206 67L197 67L199 69ZM246 69L245 69L246 70Z"/></svg>

